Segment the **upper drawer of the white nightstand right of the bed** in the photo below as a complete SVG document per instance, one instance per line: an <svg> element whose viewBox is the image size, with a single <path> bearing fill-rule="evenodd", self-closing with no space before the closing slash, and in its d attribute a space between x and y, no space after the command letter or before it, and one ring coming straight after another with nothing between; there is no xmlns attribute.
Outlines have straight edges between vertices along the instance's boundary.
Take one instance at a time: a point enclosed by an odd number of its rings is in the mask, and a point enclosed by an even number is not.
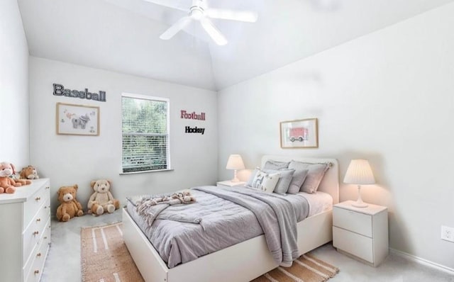
<svg viewBox="0 0 454 282"><path fill-rule="evenodd" d="M334 207L333 225L372 238L372 216Z"/></svg>

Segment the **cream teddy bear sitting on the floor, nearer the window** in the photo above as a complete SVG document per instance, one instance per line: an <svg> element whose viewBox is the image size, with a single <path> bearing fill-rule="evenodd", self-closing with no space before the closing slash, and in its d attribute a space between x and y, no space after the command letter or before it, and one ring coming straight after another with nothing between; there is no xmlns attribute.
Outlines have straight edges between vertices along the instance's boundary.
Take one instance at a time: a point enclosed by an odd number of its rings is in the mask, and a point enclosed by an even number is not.
<svg viewBox="0 0 454 282"><path fill-rule="evenodd" d="M90 196L88 201L88 213L93 215L102 215L103 213L114 213L120 208L120 201L118 201L110 191L111 181L106 179L94 180L90 183L94 193Z"/></svg>

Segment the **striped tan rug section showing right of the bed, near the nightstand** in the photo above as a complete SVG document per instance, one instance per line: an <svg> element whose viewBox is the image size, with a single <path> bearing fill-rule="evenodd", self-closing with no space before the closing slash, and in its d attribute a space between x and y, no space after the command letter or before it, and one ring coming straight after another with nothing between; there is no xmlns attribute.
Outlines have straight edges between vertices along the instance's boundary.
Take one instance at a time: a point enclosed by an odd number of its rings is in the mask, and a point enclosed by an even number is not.
<svg viewBox="0 0 454 282"><path fill-rule="evenodd" d="M321 282L327 281L339 272L336 266L303 254L290 267L277 267L255 278L251 282Z"/></svg>

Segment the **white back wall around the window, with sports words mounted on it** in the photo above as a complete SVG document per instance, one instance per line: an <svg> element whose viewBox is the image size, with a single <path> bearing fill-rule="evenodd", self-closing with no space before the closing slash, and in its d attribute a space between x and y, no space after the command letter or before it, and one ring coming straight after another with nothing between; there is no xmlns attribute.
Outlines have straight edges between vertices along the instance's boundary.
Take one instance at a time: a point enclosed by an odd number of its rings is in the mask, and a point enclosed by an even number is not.
<svg viewBox="0 0 454 282"><path fill-rule="evenodd" d="M52 95L52 84L68 89L106 91L106 102ZM163 193L214 184L217 179L217 129L214 91L128 76L30 57L31 163L50 177L52 210L57 189L78 184L78 200L86 206L95 179L111 179L116 198ZM170 98L170 148L173 171L119 175L121 172L121 94ZM57 102L100 107L100 135L57 135ZM205 121L184 120L180 110L206 113ZM184 127L206 128L204 135L185 134Z"/></svg>

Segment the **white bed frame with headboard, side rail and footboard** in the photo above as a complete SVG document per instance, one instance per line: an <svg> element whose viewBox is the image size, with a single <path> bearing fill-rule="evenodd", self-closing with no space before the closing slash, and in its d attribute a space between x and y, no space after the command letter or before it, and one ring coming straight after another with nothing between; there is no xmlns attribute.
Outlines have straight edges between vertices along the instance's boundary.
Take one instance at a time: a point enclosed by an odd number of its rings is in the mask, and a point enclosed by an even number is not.
<svg viewBox="0 0 454 282"><path fill-rule="evenodd" d="M339 174L336 159L304 159L289 156L265 155L277 161L330 162L319 186L319 191L330 193L333 203L339 202ZM298 223L299 254L330 242L332 233L332 210L313 215ZM140 273L147 282L247 282L277 267L268 250L265 235L235 244L199 259L179 264L169 269L138 225L123 209L123 238Z"/></svg>

